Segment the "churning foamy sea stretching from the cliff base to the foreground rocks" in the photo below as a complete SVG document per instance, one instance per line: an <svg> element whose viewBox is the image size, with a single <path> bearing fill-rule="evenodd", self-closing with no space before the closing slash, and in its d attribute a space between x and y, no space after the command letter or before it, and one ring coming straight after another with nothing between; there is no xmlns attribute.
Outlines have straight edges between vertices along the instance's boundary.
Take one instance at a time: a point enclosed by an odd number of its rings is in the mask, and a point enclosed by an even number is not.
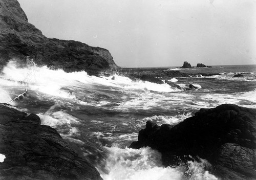
<svg viewBox="0 0 256 180"><path fill-rule="evenodd" d="M173 70L177 68L167 71ZM256 108L256 65L179 71L220 75L163 79L198 87L181 91L116 74L95 77L50 70L32 61L21 68L12 60L0 75L0 102L37 114L42 124L55 128L80 156L94 164L103 179L218 179L204 170L206 160L163 167L158 151L128 147L148 120L158 125L177 124L200 108L223 103ZM237 73L244 77L233 77Z"/></svg>

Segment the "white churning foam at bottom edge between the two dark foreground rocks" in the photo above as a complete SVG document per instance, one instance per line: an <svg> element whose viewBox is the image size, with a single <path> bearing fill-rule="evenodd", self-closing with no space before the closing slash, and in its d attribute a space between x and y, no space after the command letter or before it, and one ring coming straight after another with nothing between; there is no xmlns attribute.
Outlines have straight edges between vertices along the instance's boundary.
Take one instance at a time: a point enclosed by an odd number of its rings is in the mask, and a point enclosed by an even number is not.
<svg viewBox="0 0 256 180"><path fill-rule="evenodd" d="M150 147L131 149L121 149L117 146L106 147L109 151L109 158L106 160L104 167L97 167L101 177L104 180L108 179L123 179L123 180L162 180L162 179L187 179L184 176L185 167L164 167L161 162L161 153L153 150ZM188 172L191 180L217 178L204 170L205 163L189 162Z"/></svg>

